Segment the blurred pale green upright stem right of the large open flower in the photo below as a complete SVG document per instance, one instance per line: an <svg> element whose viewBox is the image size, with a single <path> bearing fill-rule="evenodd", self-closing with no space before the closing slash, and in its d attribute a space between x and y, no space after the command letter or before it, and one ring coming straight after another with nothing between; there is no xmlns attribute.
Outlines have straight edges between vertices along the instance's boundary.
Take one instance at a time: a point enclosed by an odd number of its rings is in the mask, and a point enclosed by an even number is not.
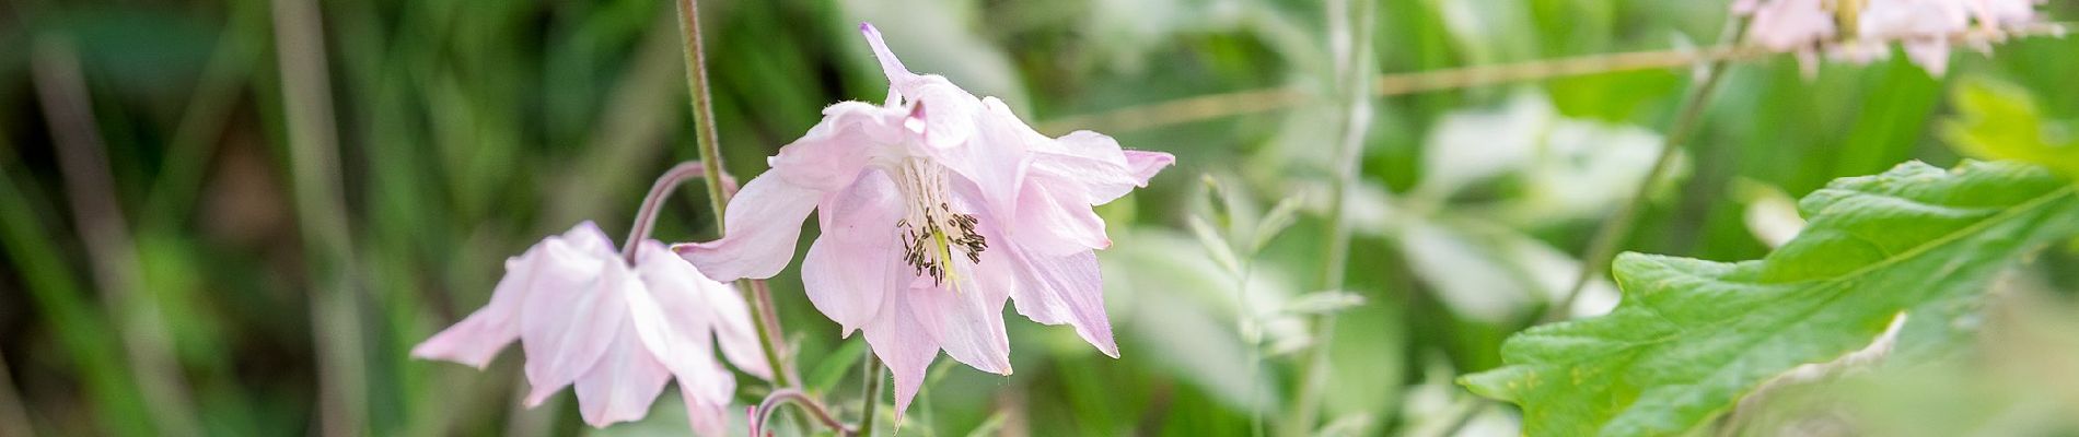
<svg viewBox="0 0 2079 437"><path fill-rule="evenodd" d="M1343 8L1331 6L1331 46L1341 48L1337 60L1337 81L1343 85L1347 110L1343 112L1343 139L1339 143L1337 155L1333 159L1335 182L1328 184L1328 228L1326 228L1326 249L1322 255L1322 275L1320 290L1343 290L1343 275L1349 269L1349 213L1345 209L1345 197L1349 186L1358 184L1358 174L1364 172L1364 137L1372 122L1372 23L1376 21L1374 2L1370 0L1343 0L1331 2ZM1299 369L1299 389L1293 396L1293 414L1285 416L1283 435L1312 435L1314 420L1320 414L1320 391L1326 385L1328 375L1328 350L1335 342L1335 313L1320 315L1314 323L1314 350L1306 356Z"/></svg>

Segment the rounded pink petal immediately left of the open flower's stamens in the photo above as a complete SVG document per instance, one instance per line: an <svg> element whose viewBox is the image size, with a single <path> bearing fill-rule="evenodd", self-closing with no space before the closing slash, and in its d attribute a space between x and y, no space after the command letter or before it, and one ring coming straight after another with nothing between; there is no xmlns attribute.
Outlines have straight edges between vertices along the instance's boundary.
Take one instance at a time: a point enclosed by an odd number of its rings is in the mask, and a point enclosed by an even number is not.
<svg viewBox="0 0 2079 437"><path fill-rule="evenodd" d="M879 170L867 170L850 188L823 199L823 236L800 261L809 302L840 325L840 336L873 321L890 275L902 269L898 244L902 195Z"/></svg>

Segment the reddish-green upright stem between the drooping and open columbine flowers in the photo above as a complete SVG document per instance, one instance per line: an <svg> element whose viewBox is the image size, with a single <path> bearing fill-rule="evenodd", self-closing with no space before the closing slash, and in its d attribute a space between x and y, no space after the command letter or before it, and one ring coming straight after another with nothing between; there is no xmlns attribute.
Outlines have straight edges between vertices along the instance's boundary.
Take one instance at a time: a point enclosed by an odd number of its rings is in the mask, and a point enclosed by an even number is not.
<svg viewBox="0 0 2079 437"><path fill-rule="evenodd" d="M678 0L678 33L686 41L686 91L692 93L692 124L699 130L694 143L699 143L701 164L705 164L707 172L707 203L715 211L715 220L726 222L730 195L734 193L723 188L728 170L721 168L721 137L715 135L715 106L707 83L707 48L701 41L699 0ZM717 228L728 232L726 224ZM800 379L794 377L794 367L784 358L784 336L771 288L763 280L738 280L736 288L751 294L751 315L759 319L759 350L765 352L765 365L773 369L773 383L796 387L794 381Z"/></svg>

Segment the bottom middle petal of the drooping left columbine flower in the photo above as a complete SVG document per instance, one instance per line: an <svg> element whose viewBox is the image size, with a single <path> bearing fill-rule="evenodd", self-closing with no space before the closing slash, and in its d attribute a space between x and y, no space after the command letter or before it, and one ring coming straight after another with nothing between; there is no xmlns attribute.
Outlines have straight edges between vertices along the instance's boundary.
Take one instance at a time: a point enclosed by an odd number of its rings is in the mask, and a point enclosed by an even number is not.
<svg viewBox="0 0 2079 437"><path fill-rule="evenodd" d="M642 418L663 383L672 381L669 369L642 346L632 319L624 317L605 344L607 352L576 381L578 412L597 429Z"/></svg>

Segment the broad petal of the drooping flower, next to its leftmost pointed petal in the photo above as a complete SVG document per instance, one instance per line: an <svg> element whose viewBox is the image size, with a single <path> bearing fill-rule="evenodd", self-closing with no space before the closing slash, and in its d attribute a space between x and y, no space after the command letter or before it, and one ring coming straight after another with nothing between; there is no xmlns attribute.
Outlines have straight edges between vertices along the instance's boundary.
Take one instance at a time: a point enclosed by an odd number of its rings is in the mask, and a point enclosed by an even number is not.
<svg viewBox="0 0 2079 437"><path fill-rule="evenodd" d="M597 265L582 284L534 286L520 309L520 348L526 350L528 406L536 406L593 369L613 348L628 302L620 288L634 275L620 257L599 259L551 240L545 265L580 269ZM559 257L561 255L561 257Z"/></svg>

